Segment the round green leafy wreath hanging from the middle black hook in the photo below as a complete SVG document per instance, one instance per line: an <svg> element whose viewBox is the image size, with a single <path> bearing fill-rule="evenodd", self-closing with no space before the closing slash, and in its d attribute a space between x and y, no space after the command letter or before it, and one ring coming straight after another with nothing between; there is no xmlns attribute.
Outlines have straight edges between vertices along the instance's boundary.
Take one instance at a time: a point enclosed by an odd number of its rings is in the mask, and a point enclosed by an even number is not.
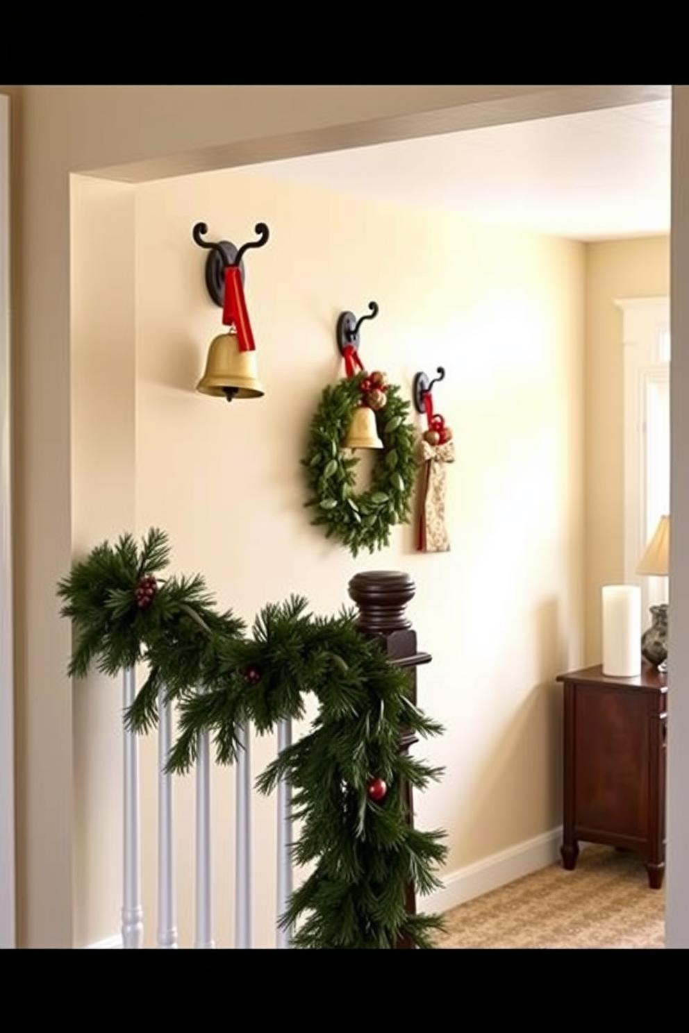
<svg viewBox="0 0 689 1033"><path fill-rule="evenodd" d="M400 397L400 388L389 384L386 404L376 412L383 447L376 453L371 487L355 493L358 460L342 450L342 442L369 376L356 373L324 388L302 460L311 492L305 505L316 510L311 523L324 527L327 538L339 538L352 556L362 549L373 553L388 545L390 528L409 521L417 472L414 432L407 422L410 405Z"/></svg>

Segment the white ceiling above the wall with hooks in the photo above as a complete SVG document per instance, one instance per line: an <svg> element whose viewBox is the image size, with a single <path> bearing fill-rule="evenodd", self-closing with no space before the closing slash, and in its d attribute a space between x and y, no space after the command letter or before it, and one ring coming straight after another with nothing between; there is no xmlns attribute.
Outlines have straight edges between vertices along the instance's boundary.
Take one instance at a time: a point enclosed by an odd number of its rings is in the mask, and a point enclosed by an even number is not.
<svg viewBox="0 0 689 1033"><path fill-rule="evenodd" d="M253 166L578 241L668 233L670 100Z"/></svg>

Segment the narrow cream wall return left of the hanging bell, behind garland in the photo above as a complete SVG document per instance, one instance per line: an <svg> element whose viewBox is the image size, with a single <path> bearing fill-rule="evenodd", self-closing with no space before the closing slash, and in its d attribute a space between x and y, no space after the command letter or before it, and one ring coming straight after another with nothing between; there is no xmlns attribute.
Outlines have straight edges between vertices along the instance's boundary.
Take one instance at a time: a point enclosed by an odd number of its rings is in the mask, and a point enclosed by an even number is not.
<svg viewBox="0 0 689 1033"><path fill-rule="evenodd" d="M134 200L133 187L71 178L75 557L135 523ZM92 672L74 682L73 922L80 944L112 934L107 902L122 885L121 712L118 681Z"/></svg>

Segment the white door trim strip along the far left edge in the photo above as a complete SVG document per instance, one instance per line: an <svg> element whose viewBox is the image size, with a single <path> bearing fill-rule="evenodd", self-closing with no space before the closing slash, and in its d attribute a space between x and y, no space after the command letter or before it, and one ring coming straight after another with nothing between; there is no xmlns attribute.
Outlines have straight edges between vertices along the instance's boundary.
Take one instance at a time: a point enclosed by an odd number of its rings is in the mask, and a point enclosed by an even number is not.
<svg viewBox="0 0 689 1033"><path fill-rule="evenodd" d="M0 96L0 948L15 946L9 378L9 98Z"/></svg>

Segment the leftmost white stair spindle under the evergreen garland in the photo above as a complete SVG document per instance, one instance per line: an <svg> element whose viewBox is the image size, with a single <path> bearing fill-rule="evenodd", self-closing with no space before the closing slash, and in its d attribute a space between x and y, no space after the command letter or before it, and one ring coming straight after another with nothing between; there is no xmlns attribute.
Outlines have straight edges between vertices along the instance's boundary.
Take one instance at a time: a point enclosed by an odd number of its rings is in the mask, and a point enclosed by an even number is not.
<svg viewBox="0 0 689 1033"><path fill-rule="evenodd" d="M134 701L136 682L133 667L125 667L124 707ZM144 945L144 911L140 901L140 849L138 813L138 743L136 734L124 729L124 906L122 945Z"/></svg>

